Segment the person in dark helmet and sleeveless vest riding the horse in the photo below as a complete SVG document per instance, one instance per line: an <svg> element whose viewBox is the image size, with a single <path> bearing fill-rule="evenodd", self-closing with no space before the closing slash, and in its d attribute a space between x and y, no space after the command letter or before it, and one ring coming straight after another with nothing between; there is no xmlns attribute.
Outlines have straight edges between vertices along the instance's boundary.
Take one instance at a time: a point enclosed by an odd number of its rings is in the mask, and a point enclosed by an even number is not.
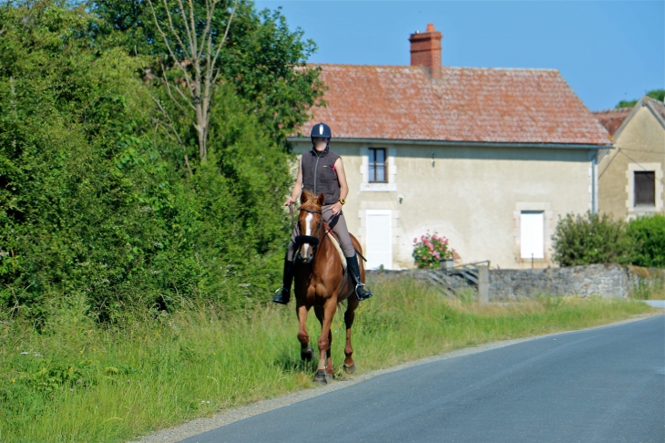
<svg viewBox="0 0 665 443"><path fill-rule="evenodd" d="M342 158L328 148L330 139L333 137L331 129L325 123L317 123L312 127L312 150L302 155L298 164L298 177L295 186L284 206L292 205L298 200L302 190L313 192L314 195L323 193L325 201L322 207L322 220L326 221L337 234L340 246L346 257L346 269L355 284L355 294L358 300L365 300L372 296L369 288L360 281L360 267L358 256L353 248L349 230L342 211L342 205L349 193L346 184L346 174ZM298 235L298 225L292 232L291 242L284 259L284 280L280 289L277 290L272 301L279 304L288 304L291 298L291 283L293 280L293 257L298 245L295 237Z"/></svg>

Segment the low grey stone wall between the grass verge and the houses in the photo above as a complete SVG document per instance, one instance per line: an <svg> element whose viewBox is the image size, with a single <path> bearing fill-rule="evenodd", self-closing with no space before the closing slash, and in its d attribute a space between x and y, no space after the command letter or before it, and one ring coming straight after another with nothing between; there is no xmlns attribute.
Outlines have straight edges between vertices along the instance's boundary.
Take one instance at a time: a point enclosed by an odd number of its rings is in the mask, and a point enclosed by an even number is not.
<svg viewBox="0 0 665 443"><path fill-rule="evenodd" d="M432 273L433 278L428 278ZM368 272L371 279L394 280L416 278L436 283L441 271L388 271ZM538 295L600 295L627 298L636 290L654 285L662 288L665 270L619 266L619 264L589 264L567 268L534 270L492 269L488 276L489 301L515 300ZM477 289L476 286L469 286Z"/></svg>

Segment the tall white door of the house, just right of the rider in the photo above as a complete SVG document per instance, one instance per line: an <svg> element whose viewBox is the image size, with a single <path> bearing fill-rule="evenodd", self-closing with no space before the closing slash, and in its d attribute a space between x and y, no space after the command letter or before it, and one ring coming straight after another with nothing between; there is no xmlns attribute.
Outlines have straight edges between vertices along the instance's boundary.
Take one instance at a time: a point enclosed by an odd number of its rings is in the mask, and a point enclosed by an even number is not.
<svg viewBox="0 0 665 443"><path fill-rule="evenodd" d="M365 258L366 269L393 269L393 217L390 210L367 210Z"/></svg>

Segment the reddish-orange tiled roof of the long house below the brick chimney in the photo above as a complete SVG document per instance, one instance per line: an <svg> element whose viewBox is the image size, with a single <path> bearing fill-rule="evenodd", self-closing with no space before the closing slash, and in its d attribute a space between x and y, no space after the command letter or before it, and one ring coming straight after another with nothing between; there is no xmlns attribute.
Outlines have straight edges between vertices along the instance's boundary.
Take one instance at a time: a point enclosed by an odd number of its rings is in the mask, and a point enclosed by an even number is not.
<svg viewBox="0 0 665 443"><path fill-rule="evenodd" d="M557 70L317 65L333 138L609 144L607 131Z"/></svg>

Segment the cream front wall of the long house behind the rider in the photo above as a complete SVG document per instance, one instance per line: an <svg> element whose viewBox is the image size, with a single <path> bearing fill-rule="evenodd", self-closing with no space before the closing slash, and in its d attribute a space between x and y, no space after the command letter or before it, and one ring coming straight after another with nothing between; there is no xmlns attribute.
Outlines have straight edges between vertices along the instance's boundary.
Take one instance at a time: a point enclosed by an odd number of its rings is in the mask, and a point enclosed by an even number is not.
<svg viewBox="0 0 665 443"><path fill-rule="evenodd" d="M311 149L308 142L296 146L297 152ZM369 147L388 151L391 183L387 186L366 183L367 159L363 154ZM358 237L363 249L367 211L391 211L394 269L414 266L414 237L427 230L448 237L464 263L490 260L493 267L531 267L530 260L519 257L520 211L545 213L546 256L536 260L535 266L547 267L553 265L549 238L558 216L590 208L587 149L466 148L335 140L331 149L343 157L350 188L343 211L350 232Z"/></svg>

